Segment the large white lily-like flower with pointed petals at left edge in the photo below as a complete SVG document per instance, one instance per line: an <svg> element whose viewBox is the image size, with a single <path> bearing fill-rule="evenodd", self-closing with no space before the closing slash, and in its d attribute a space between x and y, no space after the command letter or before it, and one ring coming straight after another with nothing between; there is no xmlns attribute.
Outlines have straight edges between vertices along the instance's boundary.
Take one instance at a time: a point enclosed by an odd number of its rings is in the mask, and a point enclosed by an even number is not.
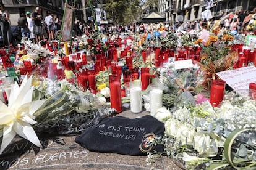
<svg viewBox="0 0 256 170"><path fill-rule="evenodd" d="M10 144L15 135L29 140L38 147L42 147L31 125L36 121L35 113L45 100L32 101L32 77L23 79L21 86L13 84L8 106L0 102L0 125L3 127L2 144L0 153Z"/></svg>

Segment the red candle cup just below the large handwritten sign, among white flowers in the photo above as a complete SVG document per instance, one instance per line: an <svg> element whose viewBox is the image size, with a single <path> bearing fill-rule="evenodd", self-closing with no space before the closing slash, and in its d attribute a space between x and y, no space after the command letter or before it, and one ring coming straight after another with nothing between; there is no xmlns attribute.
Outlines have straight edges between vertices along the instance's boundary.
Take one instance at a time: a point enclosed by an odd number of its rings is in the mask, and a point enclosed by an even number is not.
<svg viewBox="0 0 256 170"><path fill-rule="evenodd" d="M215 79L211 83L210 103L213 107L218 107L223 100L225 85L226 81L222 79Z"/></svg>

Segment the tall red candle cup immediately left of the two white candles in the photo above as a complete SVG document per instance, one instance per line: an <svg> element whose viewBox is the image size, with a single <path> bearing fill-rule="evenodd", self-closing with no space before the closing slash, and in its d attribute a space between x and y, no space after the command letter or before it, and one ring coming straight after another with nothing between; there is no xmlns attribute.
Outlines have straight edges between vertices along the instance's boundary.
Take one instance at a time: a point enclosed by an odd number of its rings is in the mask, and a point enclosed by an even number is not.
<svg viewBox="0 0 256 170"><path fill-rule="evenodd" d="M122 111L122 96L121 96L121 83L120 75L109 75L109 89L110 89L110 102L111 108L116 109L117 113Z"/></svg>

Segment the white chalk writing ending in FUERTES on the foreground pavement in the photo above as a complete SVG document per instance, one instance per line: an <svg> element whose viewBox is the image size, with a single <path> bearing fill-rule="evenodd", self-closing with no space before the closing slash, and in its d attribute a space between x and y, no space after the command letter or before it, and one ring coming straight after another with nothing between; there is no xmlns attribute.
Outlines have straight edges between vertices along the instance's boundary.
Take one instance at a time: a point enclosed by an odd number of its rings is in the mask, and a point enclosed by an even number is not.
<svg viewBox="0 0 256 170"><path fill-rule="evenodd" d="M0 169L22 169L35 165L59 164L61 161L82 160L88 156L84 149L74 148L65 150L66 142L62 138L53 140L41 140L43 150L40 150L35 156L29 154L30 150L38 147L30 142L17 142L5 150L6 156L0 157ZM54 148L54 150L52 150ZM27 153L23 156L17 156L19 153Z"/></svg>

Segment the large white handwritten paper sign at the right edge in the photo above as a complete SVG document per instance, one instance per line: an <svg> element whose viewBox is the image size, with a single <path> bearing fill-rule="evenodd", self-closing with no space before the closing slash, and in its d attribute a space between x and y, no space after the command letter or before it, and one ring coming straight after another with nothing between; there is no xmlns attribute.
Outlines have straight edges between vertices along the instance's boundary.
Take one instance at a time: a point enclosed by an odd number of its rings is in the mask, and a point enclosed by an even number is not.
<svg viewBox="0 0 256 170"><path fill-rule="evenodd" d="M216 73L226 81L233 90L249 89L250 83L256 83L256 67L241 67L234 70L226 70Z"/></svg>

